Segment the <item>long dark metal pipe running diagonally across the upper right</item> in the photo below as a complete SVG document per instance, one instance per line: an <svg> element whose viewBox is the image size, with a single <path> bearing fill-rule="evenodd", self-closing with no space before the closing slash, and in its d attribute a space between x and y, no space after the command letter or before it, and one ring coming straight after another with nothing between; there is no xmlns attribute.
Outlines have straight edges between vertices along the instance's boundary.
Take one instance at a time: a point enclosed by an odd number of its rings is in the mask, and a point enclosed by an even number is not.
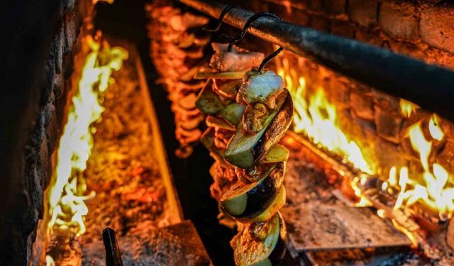
<svg viewBox="0 0 454 266"><path fill-rule="evenodd" d="M226 7L216 1L180 1L214 18ZM223 21L243 28L253 14L244 9L231 9ZM454 72L451 70L276 18L259 18L248 32L454 121Z"/></svg>

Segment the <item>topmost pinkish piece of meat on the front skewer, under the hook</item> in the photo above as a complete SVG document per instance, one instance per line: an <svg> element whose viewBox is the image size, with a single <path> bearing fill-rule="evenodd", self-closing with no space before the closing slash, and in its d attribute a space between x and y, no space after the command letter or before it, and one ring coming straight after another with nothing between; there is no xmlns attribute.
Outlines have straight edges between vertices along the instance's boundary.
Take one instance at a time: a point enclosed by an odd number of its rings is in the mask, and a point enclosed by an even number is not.
<svg viewBox="0 0 454 266"><path fill-rule="evenodd" d="M210 66L220 72L238 72L251 70L258 67L265 55L261 52L249 52L233 45L232 51L228 52L227 43L212 43L214 55L211 57Z"/></svg>

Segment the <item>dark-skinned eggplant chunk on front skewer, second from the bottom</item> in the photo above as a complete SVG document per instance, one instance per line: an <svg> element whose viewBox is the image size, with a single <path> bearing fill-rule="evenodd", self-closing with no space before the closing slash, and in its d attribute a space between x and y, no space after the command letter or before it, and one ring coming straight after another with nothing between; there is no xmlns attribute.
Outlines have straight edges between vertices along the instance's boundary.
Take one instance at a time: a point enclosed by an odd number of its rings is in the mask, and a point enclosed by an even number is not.
<svg viewBox="0 0 454 266"><path fill-rule="evenodd" d="M251 184L238 181L221 196L221 204L233 218L250 219L259 216L273 201L284 181L285 163L270 165L262 178Z"/></svg>

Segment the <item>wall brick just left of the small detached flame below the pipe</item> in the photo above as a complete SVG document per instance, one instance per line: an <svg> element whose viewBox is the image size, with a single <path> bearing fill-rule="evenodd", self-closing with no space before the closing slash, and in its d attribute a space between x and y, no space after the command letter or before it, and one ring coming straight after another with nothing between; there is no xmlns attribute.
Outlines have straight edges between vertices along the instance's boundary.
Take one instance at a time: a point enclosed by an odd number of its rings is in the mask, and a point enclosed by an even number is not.
<svg viewBox="0 0 454 266"><path fill-rule="evenodd" d="M403 121L402 116L400 116L399 113L392 113L382 106L375 105L374 109L377 135L392 143L399 144Z"/></svg>

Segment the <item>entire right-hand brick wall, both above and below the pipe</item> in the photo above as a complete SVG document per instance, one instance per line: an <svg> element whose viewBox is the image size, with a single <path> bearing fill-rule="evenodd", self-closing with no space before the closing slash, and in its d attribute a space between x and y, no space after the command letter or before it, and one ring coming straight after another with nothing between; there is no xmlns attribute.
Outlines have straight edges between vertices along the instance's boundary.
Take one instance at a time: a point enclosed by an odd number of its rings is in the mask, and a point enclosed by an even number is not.
<svg viewBox="0 0 454 266"><path fill-rule="evenodd" d="M267 0L250 1L245 8L272 11L285 21L454 68L454 5L444 2ZM365 157L376 162L380 176L387 178L393 165L408 166L416 174L422 171L406 129L420 119L426 123L431 113L419 109L406 118L399 111L398 98L287 53L290 65L298 66L297 71L306 78L309 94L323 87L328 100L336 105L338 124L360 145ZM434 144L431 162L439 162L453 173L453 125L442 121L442 126L448 137ZM423 128L426 130L426 124Z"/></svg>

